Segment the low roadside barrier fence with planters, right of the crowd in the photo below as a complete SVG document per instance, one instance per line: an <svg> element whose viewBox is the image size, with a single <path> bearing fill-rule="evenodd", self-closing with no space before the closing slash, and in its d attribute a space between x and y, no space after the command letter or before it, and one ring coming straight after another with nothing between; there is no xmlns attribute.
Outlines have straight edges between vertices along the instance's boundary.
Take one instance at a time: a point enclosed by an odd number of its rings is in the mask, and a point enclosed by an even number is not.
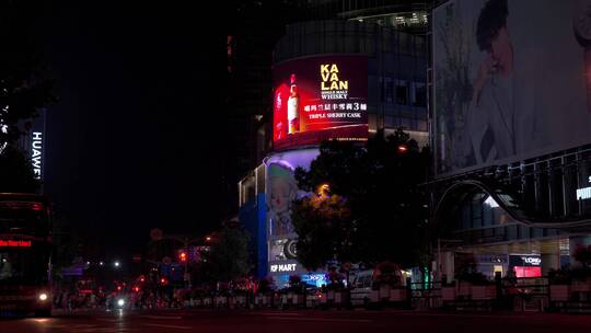
<svg viewBox="0 0 591 333"><path fill-rule="evenodd" d="M355 290L355 289L354 289ZM209 296L192 300L192 307L211 308L338 308L355 307L352 290L303 295L273 292L256 296ZM498 278L486 285L463 282L409 283L405 287L381 286L368 291L366 308L410 308L468 311L565 311L591 313L591 280L551 284L547 277Z"/></svg>

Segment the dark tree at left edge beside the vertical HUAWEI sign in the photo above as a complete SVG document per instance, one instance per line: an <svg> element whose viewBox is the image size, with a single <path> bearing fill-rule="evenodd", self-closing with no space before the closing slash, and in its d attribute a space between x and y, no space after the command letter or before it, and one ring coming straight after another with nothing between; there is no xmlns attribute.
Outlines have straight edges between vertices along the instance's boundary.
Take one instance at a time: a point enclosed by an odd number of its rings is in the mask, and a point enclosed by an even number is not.
<svg viewBox="0 0 591 333"><path fill-rule="evenodd" d="M24 120L35 118L39 110L56 101L54 82L30 31L34 10L35 3L27 1L0 4L0 163L4 164L0 169L0 192L31 192L35 182L33 173L26 171L31 165L23 163L25 158L14 143L24 134Z"/></svg>

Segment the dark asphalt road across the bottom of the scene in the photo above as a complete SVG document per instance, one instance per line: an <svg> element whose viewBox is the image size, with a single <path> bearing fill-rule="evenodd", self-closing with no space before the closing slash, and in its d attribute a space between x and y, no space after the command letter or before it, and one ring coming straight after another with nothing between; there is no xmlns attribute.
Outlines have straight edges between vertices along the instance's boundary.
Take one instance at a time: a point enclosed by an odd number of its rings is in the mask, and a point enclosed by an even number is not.
<svg viewBox="0 0 591 333"><path fill-rule="evenodd" d="M94 312L0 320L2 333L152 332L591 332L591 315L413 311L177 310Z"/></svg>

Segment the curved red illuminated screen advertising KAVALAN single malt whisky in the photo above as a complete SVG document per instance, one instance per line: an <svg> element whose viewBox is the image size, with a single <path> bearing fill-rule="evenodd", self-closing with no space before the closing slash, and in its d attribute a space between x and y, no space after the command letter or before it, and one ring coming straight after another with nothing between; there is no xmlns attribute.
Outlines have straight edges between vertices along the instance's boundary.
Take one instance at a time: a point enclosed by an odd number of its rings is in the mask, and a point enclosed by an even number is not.
<svg viewBox="0 0 591 333"><path fill-rule="evenodd" d="M300 58L276 65L273 73L276 150L328 139L367 140L367 57Z"/></svg>

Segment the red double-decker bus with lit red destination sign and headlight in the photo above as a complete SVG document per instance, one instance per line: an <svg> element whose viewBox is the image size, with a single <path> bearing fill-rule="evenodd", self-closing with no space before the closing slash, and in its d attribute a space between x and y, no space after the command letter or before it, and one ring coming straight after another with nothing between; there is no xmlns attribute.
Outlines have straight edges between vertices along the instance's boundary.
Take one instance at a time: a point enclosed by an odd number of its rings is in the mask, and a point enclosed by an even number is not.
<svg viewBox="0 0 591 333"><path fill-rule="evenodd" d="M51 314L51 252L49 202L0 193L0 314Z"/></svg>

